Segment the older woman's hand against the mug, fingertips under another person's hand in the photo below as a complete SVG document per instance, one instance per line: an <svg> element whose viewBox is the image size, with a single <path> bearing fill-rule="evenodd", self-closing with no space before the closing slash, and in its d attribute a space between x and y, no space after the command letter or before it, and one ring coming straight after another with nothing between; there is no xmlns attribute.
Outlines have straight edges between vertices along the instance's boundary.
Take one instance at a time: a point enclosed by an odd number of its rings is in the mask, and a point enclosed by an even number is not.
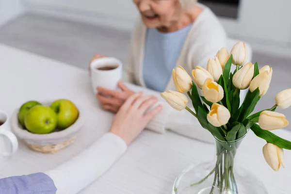
<svg viewBox="0 0 291 194"><path fill-rule="evenodd" d="M118 82L118 87L121 91L97 87L96 97L104 110L117 113L125 100L134 94L122 81Z"/></svg>

